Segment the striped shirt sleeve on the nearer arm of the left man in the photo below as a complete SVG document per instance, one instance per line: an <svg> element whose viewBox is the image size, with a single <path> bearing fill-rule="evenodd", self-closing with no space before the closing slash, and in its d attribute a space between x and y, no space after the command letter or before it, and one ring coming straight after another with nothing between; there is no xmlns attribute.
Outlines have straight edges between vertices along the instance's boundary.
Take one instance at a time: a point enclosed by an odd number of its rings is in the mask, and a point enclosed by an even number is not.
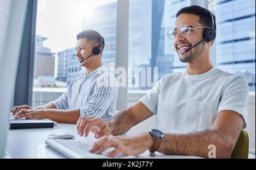
<svg viewBox="0 0 256 170"><path fill-rule="evenodd" d="M104 74L98 77L92 96L86 105L80 108L80 115L103 118L113 102L116 102L117 95L118 85L113 76Z"/></svg>

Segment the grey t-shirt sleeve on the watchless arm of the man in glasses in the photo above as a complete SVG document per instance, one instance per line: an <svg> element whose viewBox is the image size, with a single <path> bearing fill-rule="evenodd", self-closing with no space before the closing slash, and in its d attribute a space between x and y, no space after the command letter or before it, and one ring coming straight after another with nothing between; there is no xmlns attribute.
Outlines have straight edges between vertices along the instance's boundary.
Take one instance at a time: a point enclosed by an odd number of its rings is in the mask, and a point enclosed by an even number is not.
<svg viewBox="0 0 256 170"><path fill-rule="evenodd" d="M165 76L163 76L160 81L156 82L154 87L148 91L145 96L139 99L139 101L141 101L154 114L156 114L158 110L158 97L164 82L164 78Z"/></svg>

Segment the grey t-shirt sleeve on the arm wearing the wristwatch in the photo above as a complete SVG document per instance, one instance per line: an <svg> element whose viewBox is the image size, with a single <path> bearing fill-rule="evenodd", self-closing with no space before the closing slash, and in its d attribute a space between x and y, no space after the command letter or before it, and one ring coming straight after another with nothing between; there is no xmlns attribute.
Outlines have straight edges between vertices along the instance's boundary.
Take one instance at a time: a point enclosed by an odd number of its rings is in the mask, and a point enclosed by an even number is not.
<svg viewBox="0 0 256 170"><path fill-rule="evenodd" d="M230 78L222 89L218 113L222 110L236 111L243 117L243 128L247 124L247 101L249 95L249 86L243 76L234 76Z"/></svg>

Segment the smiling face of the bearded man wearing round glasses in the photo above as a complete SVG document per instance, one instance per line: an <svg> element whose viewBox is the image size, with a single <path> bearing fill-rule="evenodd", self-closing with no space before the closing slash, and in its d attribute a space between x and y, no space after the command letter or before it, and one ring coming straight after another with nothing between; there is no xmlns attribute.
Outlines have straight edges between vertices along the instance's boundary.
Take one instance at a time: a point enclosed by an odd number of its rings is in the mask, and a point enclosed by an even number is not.
<svg viewBox="0 0 256 170"><path fill-rule="evenodd" d="M180 27L183 25L188 25L191 28L203 27L202 24L199 23L199 19L199 16L193 14L180 14L176 19L175 28L178 31L174 39L174 47L179 55L180 61L183 63L189 63L205 51L205 42L203 42L190 51L185 52L185 49L192 47L203 39L203 29L191 29L190 34L186 37L181 36L179 32Z"/></svg>

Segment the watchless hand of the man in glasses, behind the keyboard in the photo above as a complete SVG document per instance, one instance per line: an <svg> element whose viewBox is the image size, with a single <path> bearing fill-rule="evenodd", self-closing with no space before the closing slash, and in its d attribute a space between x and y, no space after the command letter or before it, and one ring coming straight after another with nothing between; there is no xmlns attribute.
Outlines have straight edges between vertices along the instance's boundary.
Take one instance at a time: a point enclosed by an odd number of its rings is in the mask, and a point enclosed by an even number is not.
<svg viewBox="0 0 256 170"><path fill-rule="evenodd" d="M108 122L102 121L100 118L80 117L76 123L77 134L80 136L88 136L89 131L95 134L98 139L101 136L109 136L111 134Z"/></svg>

